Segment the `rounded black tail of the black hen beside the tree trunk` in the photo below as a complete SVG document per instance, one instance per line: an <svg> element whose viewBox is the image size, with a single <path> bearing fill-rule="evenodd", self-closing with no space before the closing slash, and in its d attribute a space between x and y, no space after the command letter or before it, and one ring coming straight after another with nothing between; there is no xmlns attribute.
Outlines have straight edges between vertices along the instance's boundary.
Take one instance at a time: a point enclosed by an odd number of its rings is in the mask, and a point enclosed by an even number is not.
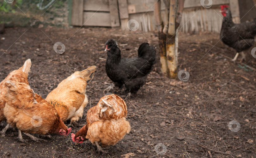
<svg viewBox="0 0 256 158"><path fill-rule="evenodd" d="M154 46L149 46L149 43L142 43L138 49L138 57L144 58L155 64L156 51Z"/></svg>

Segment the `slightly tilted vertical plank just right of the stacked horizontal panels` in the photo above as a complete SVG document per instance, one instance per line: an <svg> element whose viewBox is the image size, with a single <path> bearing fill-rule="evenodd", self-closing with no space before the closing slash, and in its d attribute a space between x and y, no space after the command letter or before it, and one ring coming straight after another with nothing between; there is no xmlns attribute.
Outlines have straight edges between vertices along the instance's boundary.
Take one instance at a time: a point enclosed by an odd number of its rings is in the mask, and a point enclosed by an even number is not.
<svg viewBox="0 0 256 158"><path fill-rule="evenodd" d="M110 10L111 26L112 27L120 26L117 0L113 0L113 3L109 6L109 10Z"/></svg>

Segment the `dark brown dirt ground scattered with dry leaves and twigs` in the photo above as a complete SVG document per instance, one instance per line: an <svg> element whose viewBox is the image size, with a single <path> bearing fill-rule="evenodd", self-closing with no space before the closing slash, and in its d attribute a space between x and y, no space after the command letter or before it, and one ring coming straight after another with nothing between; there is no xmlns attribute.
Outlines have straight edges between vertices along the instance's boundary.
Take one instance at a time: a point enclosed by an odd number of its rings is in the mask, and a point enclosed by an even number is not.
<svg viewBox="0 0 256 158"><path fill-rule="evenodd" d="M111 83L105 72L104 49L108 38L118 40L123 57L135 57L142 42L149 41L157 53L159 49L156 32L108 28L8 28L0 37L5 38L0 40L0 55L7 50L0 57L0 79L30 58L28 80L34 92L43 98L73 72L97 66L87 87L89 103L80 124L86 123L87 110L98 103ZM5 137L0 137L0 157L255 158L256 59L251 50L245 52L246 61L234 63L230 58L235 56L235 50L219 41L218 34L180 33L179 37L177 70L188 71L189 80L182 82L162 76L157 54L147 83L135 96L125 99L131 132L107 154L97 153L89 141L75 146L71 136L64 139L60 135L48 138L35 134L47 142L34 142L23 136L28 141L20 143L17 130L9 129ZM56 42L64 43L64 54L54 52ZM242 63L253 71L242 68ZM125 95L124 89L111 92ZM240 123L239 131L229 129L232 120ZM5 124L1 123L0 130ZM72 128L72 132L79 128Z"/></svg>

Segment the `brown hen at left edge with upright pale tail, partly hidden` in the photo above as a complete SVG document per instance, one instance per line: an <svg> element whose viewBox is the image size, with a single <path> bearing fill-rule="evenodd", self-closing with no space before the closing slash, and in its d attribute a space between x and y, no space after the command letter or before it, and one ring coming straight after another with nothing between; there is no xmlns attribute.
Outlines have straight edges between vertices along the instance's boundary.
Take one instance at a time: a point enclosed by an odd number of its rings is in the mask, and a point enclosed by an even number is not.
<svg viewBox="0 0 256 158"><path fill-rule="evenodd" d="M14 70L7 77L0 83L0 122L5 121L6 118L3 115L3 108L5 107L5 93L7 92L6 87L4 87L4 83L7 80L16 81L16 82L23 82L28 84L27 76L28 72L30 71L31 67L31 60L27 59L23 66L21 66L18 70ZM5 136L6 130L9 128L9 124L0 132L2 136Z"/></svg>

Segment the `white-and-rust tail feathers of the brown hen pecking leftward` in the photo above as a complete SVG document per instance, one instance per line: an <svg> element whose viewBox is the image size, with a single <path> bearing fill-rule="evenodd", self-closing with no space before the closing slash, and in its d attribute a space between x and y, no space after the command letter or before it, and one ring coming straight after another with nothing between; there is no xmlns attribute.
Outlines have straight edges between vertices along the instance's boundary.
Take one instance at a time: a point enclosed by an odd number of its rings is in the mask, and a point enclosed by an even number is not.
<svg viewBox="0 0 256 158"><path fill-rule="evenodd" d="M125 101L115 94L102 97L96 106L99 119L119 119L127 116Z"/></svg>

